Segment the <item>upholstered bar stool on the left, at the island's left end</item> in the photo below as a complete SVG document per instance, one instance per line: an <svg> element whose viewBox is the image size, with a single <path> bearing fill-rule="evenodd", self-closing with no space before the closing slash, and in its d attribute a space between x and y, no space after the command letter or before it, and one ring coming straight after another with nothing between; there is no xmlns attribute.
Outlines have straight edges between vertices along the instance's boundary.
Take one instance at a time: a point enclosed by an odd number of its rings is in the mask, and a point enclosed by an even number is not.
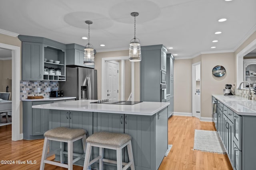
<svg viewBox="0 0 256 170"><path fill-rule="evenodd" d="M68 170L73 169L73 163L81 159L85 155L86 151L86 133L84 129L70 129L68 127L57 127L48 130L44 133L44 147L42 152L42 159L40 164L40 170L44 169L44 164L52 164L56 166L61 166L68 168ZM84 154L73 153L73 142L82 139ZM60 149L54 150L47 154L49 147L49 140L59 141ZM64 142L68 143L68 152L64 151ZM60 162L55 162L52 160L46 160L48 156L53 155L56 151L60 151ZM68 164L64 164L64 154L68 155ZM78 156L73 160L73 155Z"/></svg>

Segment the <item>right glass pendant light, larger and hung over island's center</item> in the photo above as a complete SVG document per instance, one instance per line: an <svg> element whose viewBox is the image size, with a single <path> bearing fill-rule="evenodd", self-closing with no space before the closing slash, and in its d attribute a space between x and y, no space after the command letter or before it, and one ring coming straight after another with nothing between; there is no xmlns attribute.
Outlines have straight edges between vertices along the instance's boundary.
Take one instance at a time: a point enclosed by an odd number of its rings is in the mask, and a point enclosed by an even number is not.
<svg viewBox="0 0 256 170"><path fill-rule="evenodd" d="M141 49L140 49L140 40L136 38L136 16L138 12L132 12L131 16L134 17L134 38L130 41L130 50L129 50L129 61L141 61Z"/></svg>

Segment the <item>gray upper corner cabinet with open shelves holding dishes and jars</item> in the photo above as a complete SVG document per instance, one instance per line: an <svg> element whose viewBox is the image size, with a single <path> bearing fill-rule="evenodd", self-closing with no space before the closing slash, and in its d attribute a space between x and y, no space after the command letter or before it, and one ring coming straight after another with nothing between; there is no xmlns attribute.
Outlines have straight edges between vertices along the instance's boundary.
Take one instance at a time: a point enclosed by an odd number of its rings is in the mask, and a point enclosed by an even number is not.
<svg viewBox="0 0 256 170"><path fill-rule="evenodd" d="M65 44L27 35L18 35L18 39L22 41L22 80L66 81ZM51 63L48 60L60 63ZM59 68L61 75L50 75L49 72L44 72L44 67Z"/></svg>

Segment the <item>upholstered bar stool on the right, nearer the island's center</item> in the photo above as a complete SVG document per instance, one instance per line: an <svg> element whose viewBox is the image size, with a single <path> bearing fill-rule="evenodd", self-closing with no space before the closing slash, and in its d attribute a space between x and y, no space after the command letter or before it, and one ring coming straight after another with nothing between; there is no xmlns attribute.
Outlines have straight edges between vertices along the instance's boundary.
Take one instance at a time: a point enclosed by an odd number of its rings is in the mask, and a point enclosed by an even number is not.
<svg viewBox="0 0 256 170"><path fill-rule="evenodd" d="M84 158L84 170L87 170L88 166L99 160L100 170L103 170L103 162L109 162L117 164L117 170L126 170L131 168L135 170L133 154L132 154L132 137L124 133L110 133L110 132L97 132L92 134L86 139L87 148ZM129 162L122 162L122 148L127 146ZM99 147L99 156L90 161L90 155L92 147ZM116 160L110 160L104 158L104 148L116 150ZM124 168L122 168L124 165Z"/></svg>

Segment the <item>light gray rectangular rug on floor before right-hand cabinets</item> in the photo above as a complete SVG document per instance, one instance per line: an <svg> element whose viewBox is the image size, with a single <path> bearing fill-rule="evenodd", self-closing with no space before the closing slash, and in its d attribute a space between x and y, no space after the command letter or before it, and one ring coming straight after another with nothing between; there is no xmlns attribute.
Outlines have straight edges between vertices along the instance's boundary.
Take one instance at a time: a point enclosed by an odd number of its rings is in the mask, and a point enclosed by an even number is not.
<svg viewBox="0 0 256 170"><path fill-rule="evenodd" d="M226 154L226 150L217 131L195 129L194 150Z"/></svg>

